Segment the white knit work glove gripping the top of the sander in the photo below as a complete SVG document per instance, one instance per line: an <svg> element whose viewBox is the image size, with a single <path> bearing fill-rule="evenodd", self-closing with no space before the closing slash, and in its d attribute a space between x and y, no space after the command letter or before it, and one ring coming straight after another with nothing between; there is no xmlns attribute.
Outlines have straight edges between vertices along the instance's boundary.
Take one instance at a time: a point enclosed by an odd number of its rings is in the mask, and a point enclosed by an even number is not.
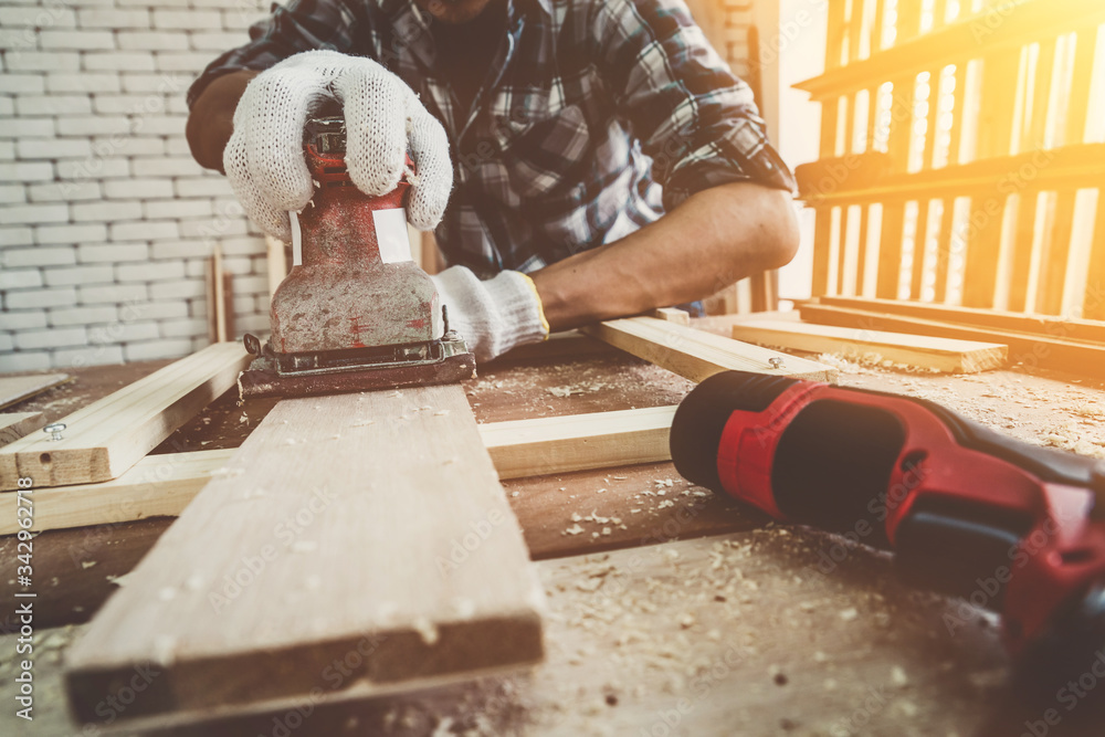
<svg viewBox="0 0 1105 737"><path fill-rule="evenodd" d="M222 156L245 213L265 233L292 240L287 211L303 210L314 193L303 129L328 98L344 108L346 166L354 183L371 196L390 192L410 148L418 175L408 172L407 218L419 230L433 230L453 187L445 130L398 76L370 59L336 51L290 56L245 88Z"/></svg>

